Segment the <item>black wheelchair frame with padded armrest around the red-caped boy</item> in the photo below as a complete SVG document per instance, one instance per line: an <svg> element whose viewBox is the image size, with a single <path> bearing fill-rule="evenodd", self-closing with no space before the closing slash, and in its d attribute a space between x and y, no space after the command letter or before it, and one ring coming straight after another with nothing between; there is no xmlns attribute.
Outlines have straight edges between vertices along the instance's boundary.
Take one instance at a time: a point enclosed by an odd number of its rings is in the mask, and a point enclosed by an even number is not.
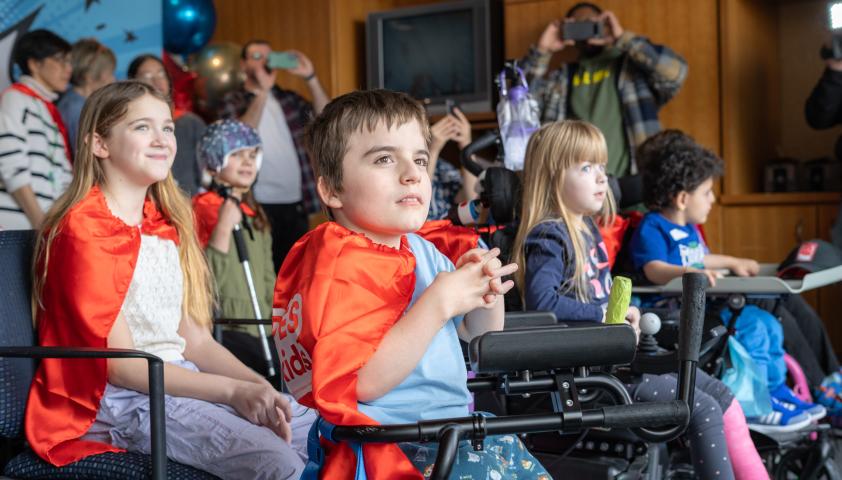
<svg viewBox="0 0 842 480"><path fill-rule="evenodd" d="M636 338L627 325L520 325L486 333L471 342L468 352L477 378L469 380L469 390L505 396L546 393L552 399L552 412L496 417L475 413L415 424L331 426L320 427L319 431L333 442L438 442L430 477L433 479L449 478L460 440L481 448L482 439L488 435L567 434L599 428L628 429L649 442L672 440L684 432L692 411L704 317L704 282L701 275L686 276L675 400L633 403L620 379L611 373L591 371L594 367L632 361ZM523 348L524 344L529 348ZM600 348L594 349L594 345ZM600 396L608 397L609 402L594 403ZM559 472L558 478L571 475L566 467L563 472L552 466L548 470L551 475Z"/></svg>

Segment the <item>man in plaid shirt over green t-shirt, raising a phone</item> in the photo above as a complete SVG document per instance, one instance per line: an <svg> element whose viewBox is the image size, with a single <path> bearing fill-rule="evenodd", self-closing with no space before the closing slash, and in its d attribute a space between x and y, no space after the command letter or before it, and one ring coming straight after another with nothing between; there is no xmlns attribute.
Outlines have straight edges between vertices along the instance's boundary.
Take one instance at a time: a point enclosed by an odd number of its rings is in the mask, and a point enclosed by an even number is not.
<svg viewBox="0 0 842 480"><path fill-rule="evenodd" d="M567 22L601 22L601 38L563 40ZM575 63L548 72L553 54L575 49ZM607 173L616 177L638 171L634 153L661 130L658 110L678 93L687 78L687 62L663 45L626 31L617 17L581 2L564 20L551 22L538 44L520 61L529 90L540 106L541 121L587 120L608 143Z"/></svg>

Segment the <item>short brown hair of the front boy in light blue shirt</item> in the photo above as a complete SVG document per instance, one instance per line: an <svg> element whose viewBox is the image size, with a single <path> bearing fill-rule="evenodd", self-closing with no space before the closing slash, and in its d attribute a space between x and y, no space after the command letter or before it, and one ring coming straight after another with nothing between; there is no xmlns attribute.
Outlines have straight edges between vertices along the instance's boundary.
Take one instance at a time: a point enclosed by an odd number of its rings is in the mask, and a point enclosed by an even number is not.
<svg viewBox="0 0 842 480"><path fill-rule="evenodd" d="M360 90L346 93L327 104L307 128L306 144L313 172L324 177L327 187L342 191L342 159L351 135L373 131L380 122L386 128L417 121L427 147L430 125L424 107L405 93L391 90Z"/></svg>

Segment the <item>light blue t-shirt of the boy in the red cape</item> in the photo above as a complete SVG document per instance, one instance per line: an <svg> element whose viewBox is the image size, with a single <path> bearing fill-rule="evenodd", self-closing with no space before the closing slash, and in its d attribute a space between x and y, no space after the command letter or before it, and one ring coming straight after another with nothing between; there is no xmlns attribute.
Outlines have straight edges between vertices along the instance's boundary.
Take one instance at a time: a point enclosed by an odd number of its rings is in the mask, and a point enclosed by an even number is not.
<svg viewBox="0 0 842 480"><path fill-rule="evenodd" d="M411 308L436 274L452 272L455 267L427 240L414 234L407 235L407 240L415 255L415 292L408 307ZM386 425L468 415L472 398L456 333L462 320L462 316L450 319L433 337L412 373L386 395L370 402L359 402L360 412Z"/></svg>

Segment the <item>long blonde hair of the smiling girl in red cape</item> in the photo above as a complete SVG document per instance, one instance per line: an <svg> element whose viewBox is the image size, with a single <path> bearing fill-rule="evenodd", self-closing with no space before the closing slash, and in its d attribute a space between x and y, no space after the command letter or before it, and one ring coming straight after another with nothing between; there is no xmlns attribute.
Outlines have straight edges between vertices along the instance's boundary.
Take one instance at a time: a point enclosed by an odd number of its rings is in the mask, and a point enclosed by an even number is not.
<svg viewBox="0 0 842 480"><path fill-rule="evenodd" d="M73 180L47 212L35 244L32 274L34 305L43 307L40 296L47 279L50 246L60 233L62 220L74 205L88 195L91 188L105 185L107 181L100 159L91 149L91 142L81 139L90 139L94 134L108 138L114 125L125 117L129 104L146 95L169 105L167 97L153 87L134 80L102 87L85 102L79 123L80 141L73 162ZM184 279L182 312L200 325L210 327L214 298L210 270L196 238L190 201L176 186L172 173L151 185L147 195L178 232L178 256ZM37 317L34 322L37 322Z"/></svg>

